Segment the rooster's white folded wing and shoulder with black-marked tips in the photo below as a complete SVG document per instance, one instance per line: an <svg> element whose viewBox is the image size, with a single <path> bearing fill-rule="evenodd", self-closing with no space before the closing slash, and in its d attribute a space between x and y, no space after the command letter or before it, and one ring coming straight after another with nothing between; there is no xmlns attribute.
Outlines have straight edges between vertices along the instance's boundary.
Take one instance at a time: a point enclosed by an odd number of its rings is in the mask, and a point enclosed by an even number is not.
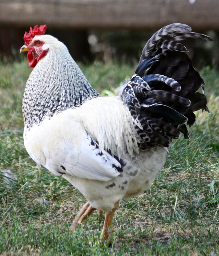
<svg viewBox="0 0 219 256"><path fill-rule="evenodd" d="M91 139L74 110L67 110L24 131L24 144L37 164L56 175L109 181L121 174L120 163Z"/></svg>

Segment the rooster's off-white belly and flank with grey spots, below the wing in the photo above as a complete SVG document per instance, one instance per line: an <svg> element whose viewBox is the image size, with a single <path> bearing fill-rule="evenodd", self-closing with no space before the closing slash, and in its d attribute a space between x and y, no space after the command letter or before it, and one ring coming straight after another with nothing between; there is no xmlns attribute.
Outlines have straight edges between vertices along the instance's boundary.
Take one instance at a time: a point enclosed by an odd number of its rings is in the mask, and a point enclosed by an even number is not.
<svg viewBox="0 0 219 256"><path fill-rule="evenodd" d="M167 151L164 147L149 148L139 154L123 154L126 162L123 173L108 182L80 179L63 175L70 183L79 189L89 203L97 209L110 213L114 202L128 200L149 189L157 174L164 165Z"/></svg>

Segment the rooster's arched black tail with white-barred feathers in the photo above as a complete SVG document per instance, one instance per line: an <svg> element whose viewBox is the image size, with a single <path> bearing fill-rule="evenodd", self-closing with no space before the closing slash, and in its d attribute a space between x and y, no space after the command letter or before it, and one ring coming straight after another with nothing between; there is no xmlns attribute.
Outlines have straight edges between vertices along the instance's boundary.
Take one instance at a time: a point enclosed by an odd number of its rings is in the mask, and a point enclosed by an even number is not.
<svg viewBox="0 0 219 256"><path fill-rule="evenodd" d="M193 112L202 109L209 113L204 81L179 42L186 38L211 40L192 32L186 24L161 28L145 44L135 74L122 92L139 135L140 149L168 147L180 133L189 139L185 123L193 125ZM200 87L202 94L197 92Z"/></svg>

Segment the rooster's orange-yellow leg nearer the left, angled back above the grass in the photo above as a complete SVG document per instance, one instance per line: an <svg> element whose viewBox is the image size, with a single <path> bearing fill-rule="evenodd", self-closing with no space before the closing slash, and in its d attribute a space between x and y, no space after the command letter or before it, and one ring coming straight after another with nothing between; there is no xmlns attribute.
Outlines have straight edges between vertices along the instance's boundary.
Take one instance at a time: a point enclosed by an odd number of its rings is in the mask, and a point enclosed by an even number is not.
<svg viewBox="0 0 219 256"><path fill-rule="evenodd" d="M77 213L77 215L74 218L74 221L72 223L72 225L69 228L69 231L74 232L75 228L78 226L78 224L81 224L86 217L90 216L91 213L95 210L95 208L93 208L89 202L85 203L82 208L80 209L80 211Z"/></svg>

